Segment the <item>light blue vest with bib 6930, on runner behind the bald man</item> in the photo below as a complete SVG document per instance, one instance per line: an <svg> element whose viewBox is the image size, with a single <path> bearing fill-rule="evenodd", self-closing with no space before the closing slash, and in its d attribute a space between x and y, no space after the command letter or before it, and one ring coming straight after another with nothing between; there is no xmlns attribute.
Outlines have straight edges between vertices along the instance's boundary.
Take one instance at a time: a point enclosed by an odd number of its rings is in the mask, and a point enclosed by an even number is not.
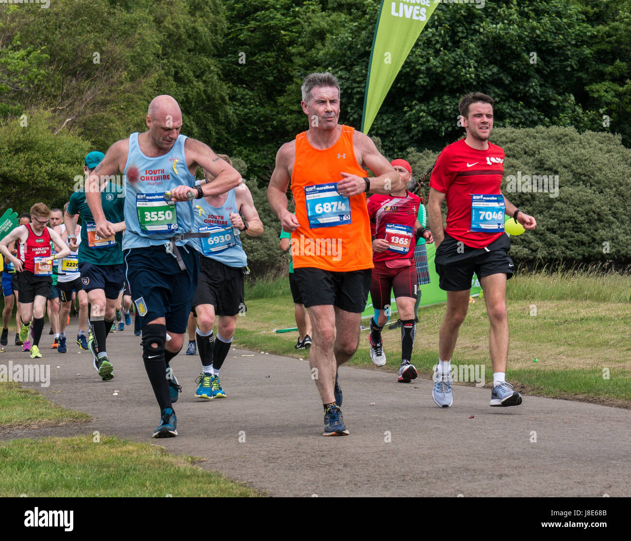
<svg viewBox="0 0 631 541"><path fill-rule="evenodd" d="M209 205L206 198L193 201L194 207L194 227L196 231L210 230L214 232L211 237L192 239L194 247L204 257L215 259L230 267L244 267L247 265L247 256L241 246L240 236L235 234L238 229L232 228L230 213L239 214L237 208L237 194L235 188L228 192L223 206L216 208Z"/></svg>

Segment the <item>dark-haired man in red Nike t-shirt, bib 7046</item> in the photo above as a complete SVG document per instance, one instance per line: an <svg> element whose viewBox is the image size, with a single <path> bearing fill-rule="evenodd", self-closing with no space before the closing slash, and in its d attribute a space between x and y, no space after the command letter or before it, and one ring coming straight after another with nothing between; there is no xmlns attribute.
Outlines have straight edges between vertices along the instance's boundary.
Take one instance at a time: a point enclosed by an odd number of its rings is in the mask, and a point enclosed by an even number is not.
<svg viewBox="0 0 631 541"><path fill-rule="evenodd" d="M436 271L440 288L447 291L447 313L440 326L439 362L435 367L433 401L452 405L451 355L458 330L469 307L473 273L478 275L491 323L489 349L493 365L492 406L517 406L521 395L505 381L509 352L506 280L514 265L508 255L510 240L504 234L504 215L524 229L534 229L532 216L502 195L504 150L488 142L493 129L492 97L470 92L459 109L466 138L445 147L432 172L428 217L436 241ZM443 230L440 204L447 203Z"/></svg>

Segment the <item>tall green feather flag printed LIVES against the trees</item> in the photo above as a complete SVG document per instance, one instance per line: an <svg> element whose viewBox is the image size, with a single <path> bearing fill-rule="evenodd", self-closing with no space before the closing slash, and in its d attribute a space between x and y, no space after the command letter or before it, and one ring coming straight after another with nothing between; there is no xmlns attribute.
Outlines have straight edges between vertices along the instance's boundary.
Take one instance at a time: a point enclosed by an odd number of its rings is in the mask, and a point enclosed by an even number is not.
<svg viewBox="0 0 631 541"><path fill-rule="evenodd" d="M438 4L434 0L382 1L363 97L363 133L369 132L394 78Z"/></svg>

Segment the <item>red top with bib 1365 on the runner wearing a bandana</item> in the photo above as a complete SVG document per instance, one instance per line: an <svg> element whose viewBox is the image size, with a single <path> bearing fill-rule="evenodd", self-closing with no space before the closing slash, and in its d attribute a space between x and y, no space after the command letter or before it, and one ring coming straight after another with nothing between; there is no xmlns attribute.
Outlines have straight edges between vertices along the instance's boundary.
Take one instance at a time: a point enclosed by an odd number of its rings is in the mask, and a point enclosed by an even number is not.
<svg viewBox="0 0 631 541"><path fill-rule="evenodd" d="M414 225L421 199L406 191L404 196L374 194L368 199L370 234L386 239L390 247L384 252L374 252L372 260L414 258Z"/></svg>

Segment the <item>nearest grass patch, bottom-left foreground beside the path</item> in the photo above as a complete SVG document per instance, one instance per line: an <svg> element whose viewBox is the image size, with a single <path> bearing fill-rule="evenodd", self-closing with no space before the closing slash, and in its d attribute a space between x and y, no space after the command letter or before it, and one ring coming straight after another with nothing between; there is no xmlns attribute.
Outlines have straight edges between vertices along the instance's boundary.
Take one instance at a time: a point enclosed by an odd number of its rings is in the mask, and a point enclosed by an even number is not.
<svg viewBox="0 0 631 541"><path fill-rule="evenodd" d="M0 496L255 497L255 490L193 465L192 456L117 437L45 437L0 443Z"/></svg>

